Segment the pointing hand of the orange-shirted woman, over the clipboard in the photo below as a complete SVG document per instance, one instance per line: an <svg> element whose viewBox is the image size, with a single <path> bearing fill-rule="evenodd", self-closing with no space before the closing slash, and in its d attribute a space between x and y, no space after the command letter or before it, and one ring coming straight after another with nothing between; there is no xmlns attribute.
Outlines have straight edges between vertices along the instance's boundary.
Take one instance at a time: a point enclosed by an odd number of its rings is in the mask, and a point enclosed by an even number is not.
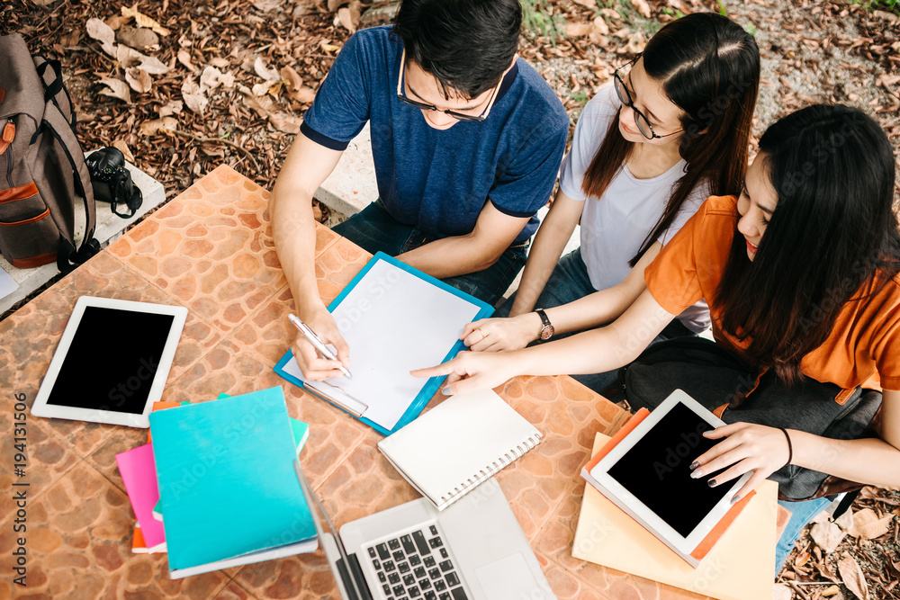
<svg viewBox="0 0 900 600"><path fill-rule="evenodd" d="M456 358L437 367L410 371L413 377L437 377L447 375L445 395L469 391L491 390L515 377L516 360L508 353L461 352Z"/></svg>

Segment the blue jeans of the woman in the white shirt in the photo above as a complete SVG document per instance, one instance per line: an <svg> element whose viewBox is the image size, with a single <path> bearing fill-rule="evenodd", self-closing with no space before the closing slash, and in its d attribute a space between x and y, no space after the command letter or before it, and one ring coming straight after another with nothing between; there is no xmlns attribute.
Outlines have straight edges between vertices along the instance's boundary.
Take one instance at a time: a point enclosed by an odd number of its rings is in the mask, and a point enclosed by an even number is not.
<svg viewBox="0 0 900 600"><path fill-rule="evenodd" d="M568 304L569 302L584 298L595 291L597 290L590 284L588 267L584 264L584 261L581 260L581 247L579 247L560 258L559 263L554 267L554 272L550 274L550 279L547 280L544 290L541 291L540 296L538 296L535 308L551 309L556 306L562 306L563 304ZM510 296L509 300L500 306L500 309L497 309L494 316L509 317L509 311L512 309L512 304L515 300L516 293ZM570 333L557 334L551 341L573 336L577 333L581 332L572 331ZM680 320L674 318L671 323L662 330L662 333L660 333L659 336L656 336L651 344L653 345L673 337L696 335L697 334L690 331L688 327L684 327ZM540 342L533 342L532 345L539 343ZM590 373L588 375L572 375L572 378L576 381L580 381L591 390L603 394L610 387L618 384L618 371Z"/></svg>

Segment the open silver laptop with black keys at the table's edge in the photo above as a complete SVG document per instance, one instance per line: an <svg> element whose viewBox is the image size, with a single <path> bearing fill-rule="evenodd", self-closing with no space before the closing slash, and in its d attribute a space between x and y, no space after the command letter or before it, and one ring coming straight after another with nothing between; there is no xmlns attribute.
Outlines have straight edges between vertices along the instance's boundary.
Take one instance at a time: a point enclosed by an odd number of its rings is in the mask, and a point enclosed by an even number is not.
<svg viewBox="0 0 900 600"><path fill-rule="evenodd" d="M493 478L442 512L419 498L338 534L300 461L294 469L343 600L556 597Z"/></svg>

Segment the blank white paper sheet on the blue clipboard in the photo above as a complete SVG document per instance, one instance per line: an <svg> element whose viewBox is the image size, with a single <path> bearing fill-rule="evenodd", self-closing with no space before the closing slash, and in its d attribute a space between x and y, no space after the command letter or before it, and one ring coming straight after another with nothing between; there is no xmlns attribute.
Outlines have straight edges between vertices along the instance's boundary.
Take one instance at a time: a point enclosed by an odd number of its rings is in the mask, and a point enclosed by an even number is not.
<svg viewBox="0 0 900 600"><path fill-rule="evenodd" d="M332 311L350 346L352 379L304 381L324 394L344 390L367 408L362 416L391 430L428 379L410 371L442 363L479 307L379 260ZM284 371L303 380L296 361Z"/></svg>

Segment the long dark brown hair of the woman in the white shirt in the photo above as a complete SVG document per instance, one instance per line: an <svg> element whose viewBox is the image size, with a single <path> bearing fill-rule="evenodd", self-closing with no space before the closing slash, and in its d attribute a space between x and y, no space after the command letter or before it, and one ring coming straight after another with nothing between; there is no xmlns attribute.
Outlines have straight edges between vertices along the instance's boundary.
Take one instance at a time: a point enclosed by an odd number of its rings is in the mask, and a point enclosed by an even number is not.
<svg viewBox="0 0 900 600"><path fill-rule="evenodd" d="M706 180L715 195L740 190L760 87L756 40L720 14L694 13L669 23L647 42L643 58L647 75L684 112L679 153L688 166L632 266L671 226L698 184ZM602 196L632 146L618 130L617 113L584 176L584 193Z"/></svg>

